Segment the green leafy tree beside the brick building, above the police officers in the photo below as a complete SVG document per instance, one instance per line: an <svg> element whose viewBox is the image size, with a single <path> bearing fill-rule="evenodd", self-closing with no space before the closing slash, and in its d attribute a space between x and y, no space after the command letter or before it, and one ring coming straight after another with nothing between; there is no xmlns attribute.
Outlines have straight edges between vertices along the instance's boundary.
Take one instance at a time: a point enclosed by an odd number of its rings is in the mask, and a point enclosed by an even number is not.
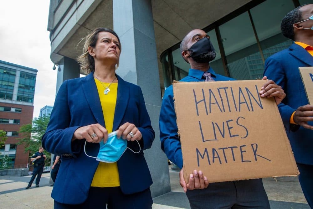
<svg viewBox="0 0 313 209"><path fill-rule="evenodd" d="M47 129L49 120L50 116L38 117L33 119L32 124L21 126L19 133L22 138L18 138L18 144L25 145L25 152L29 151L29 157L38 152L38 148L41 146L41 137ZM47 156L46 165L50 165L51 154L46 151L44 154Z"/></svg>

